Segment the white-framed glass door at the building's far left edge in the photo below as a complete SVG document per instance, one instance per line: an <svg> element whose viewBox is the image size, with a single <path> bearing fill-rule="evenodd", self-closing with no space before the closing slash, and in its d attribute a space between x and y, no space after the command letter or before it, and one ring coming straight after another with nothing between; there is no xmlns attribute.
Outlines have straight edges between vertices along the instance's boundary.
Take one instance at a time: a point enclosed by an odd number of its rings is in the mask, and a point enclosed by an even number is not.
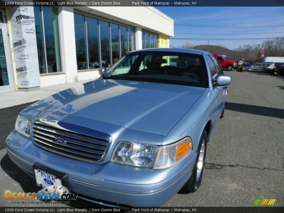
<svg viewBox="0 0 284 213"><path fill-rule="evenodd" d="M0 10L0 93L14 91L8 34L4 20L4 11Z"/></svg>

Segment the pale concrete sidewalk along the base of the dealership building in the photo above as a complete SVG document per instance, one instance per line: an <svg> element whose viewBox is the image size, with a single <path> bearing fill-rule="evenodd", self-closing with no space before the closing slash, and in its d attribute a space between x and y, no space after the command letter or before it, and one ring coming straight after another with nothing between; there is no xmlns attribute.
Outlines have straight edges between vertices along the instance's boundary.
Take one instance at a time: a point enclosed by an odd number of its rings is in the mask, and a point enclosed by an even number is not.
<svg viewBox="0 0 284 213"><path fill-rule="evenodd" d="M88 81L91 80L41 87L39 90L31 92L17 91L17 92L0 93L0 109L20 104L25 104L33 101L38 101L50 95L53 95L54 93L80 85Z"/></svg>

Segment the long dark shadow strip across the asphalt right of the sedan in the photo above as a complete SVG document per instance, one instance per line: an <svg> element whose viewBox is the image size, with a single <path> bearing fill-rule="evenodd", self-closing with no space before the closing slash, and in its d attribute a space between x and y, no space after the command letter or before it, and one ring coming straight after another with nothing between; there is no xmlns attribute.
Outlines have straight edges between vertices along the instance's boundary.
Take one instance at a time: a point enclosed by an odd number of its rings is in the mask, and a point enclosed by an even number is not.
<svg viewBox="0 0 284 213"><path fill-rule="evenodd" d="M236 112L244 112L249 114L256 114L267 117L276 117L284 119L284 109L277 109L267 106L255 106L250 104L238 104L238 103L226 102L225 109Z"/></svg>

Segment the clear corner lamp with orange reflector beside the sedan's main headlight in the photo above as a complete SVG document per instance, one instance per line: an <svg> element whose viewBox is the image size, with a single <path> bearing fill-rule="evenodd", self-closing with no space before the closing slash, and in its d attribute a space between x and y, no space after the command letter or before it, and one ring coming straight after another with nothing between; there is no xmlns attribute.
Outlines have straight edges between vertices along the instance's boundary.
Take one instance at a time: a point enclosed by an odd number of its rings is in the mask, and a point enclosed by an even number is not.
<svg viewBox="0 0 284 213"><path fill-rule="evenodd" d="M154 163L153 169L165 169L175 165L188 156L192 151L192 142L189 137L176 143L161 146Z"/></svg>

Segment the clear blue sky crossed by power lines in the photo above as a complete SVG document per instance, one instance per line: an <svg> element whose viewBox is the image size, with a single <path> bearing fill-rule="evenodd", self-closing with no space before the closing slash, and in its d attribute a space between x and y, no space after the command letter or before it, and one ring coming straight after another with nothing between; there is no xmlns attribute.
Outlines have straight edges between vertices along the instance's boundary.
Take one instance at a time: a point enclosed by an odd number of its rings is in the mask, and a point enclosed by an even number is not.
<svg viewBox="0 0 284 213"><path fill-rule="evenodd" d="M249 0L248 0L249 1ZM238 48L240 45L260 44L260 40L243 40L243 38L274 38L284 37L284 7L156 7L161 12L171 17L175 24L209 25L217 27L196 27L174 25L174 38L238 38L236 41L210 41L209 45L224 45L228 49ZM256 25L276 25L277 27L251 27ZM233 28L228 28L232 26ZM241 27L246 26L246 27ZM282 33L280 33L282 32ZM191 34L179 34L191 33ZM236 35L248 34L251 35ZM265 34L261 34L265 33ZM209 35L192 35L209 34ZM212 35L222 34L222 35ZM232 34L232 35L229 35ZM170 39L170 45L179 46L184 43L192 43L193 46L208 44L208 41L174 40Z"/></svg>

